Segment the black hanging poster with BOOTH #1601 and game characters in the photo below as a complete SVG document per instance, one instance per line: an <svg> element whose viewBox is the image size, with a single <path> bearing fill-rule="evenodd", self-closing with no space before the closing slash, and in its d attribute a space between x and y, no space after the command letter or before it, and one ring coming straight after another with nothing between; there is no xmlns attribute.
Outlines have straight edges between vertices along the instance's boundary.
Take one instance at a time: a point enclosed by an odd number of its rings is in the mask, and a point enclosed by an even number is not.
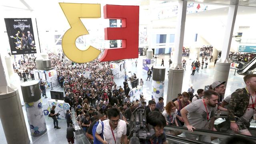
<svg viewBox="0 0 256 144"><path fill-rule="evenodd" d="M36 53L31 18L4 18L12 55Z"/></svg>

